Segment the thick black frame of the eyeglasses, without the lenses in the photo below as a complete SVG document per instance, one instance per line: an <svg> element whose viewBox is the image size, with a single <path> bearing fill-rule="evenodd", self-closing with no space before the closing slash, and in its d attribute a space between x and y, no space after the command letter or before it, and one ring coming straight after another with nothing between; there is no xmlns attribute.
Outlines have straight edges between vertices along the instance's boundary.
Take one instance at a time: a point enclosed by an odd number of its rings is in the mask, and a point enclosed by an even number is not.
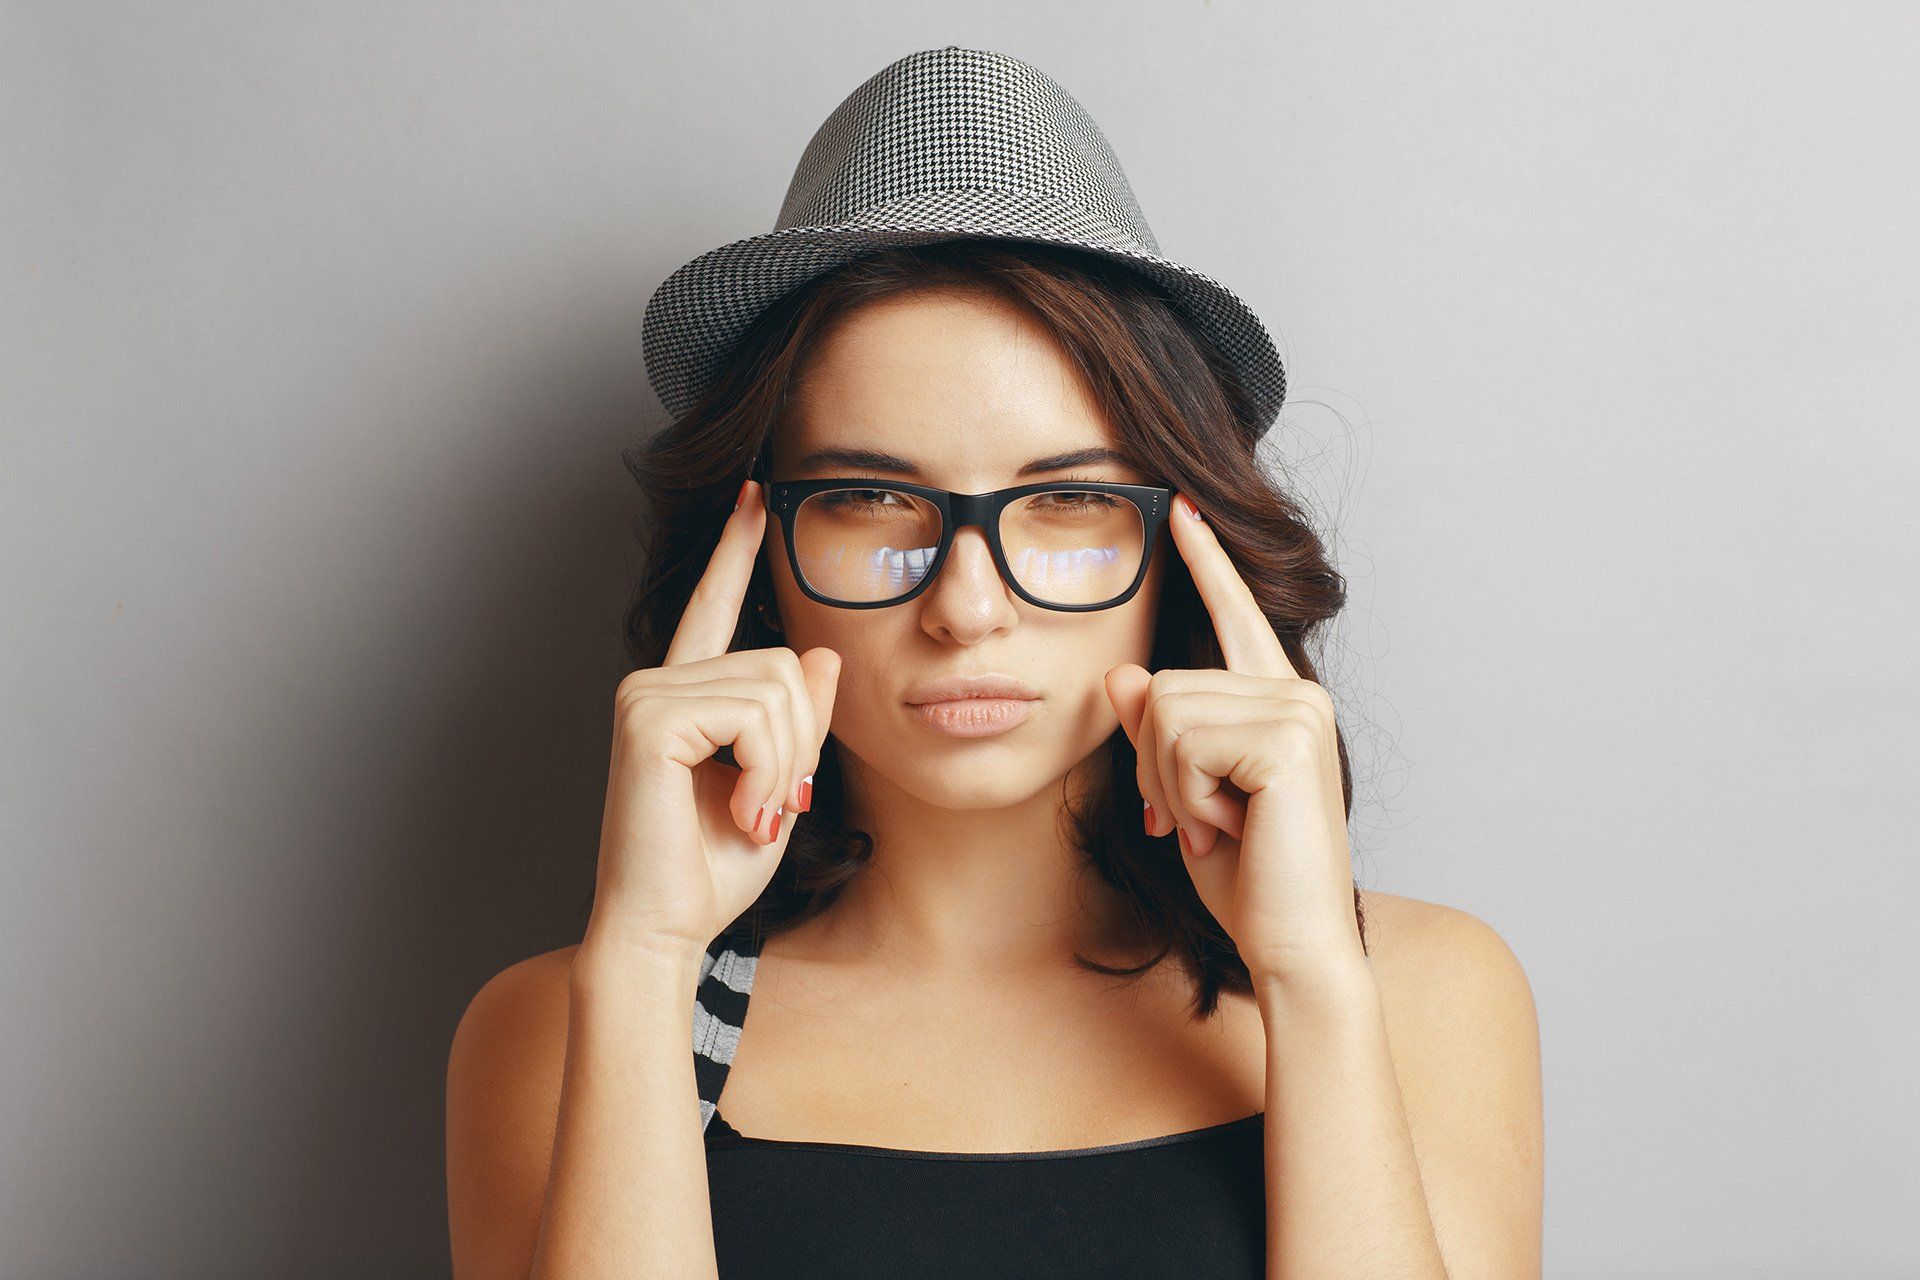
<svg viewBox="0 0 1920 1280"><path fill-rule="evenodd" d="M927 484L908 484L904 480L874 480L872 476L843 476L833 480L774 480L772 462L766 453L755 455L753 464L747 468L747 478L755 480L766 493L766 510L780 518L781 537L787 545L787 566L793 570L793 581L810 601L829 604L833 608L893 608L895 604L906 604L916 595L933 585L939 578L941 566L947 564L947 553L952 551L954 537L960 530L975 526L987 539L987 549L993 553L993 566L1000 574L1000 581L1014 589L1014 595L1033 604L1035 608L1052 608L1064 614L1087 614L1100 612L1106 608L1119 608L1131 601L1140 591L1140 583L1146 581L1146 568L1154 558L1154 545L1160 537L1160 526L1167 522L1167 514L1173 510L1173 489L1160 484L1117 484L1110 480L1039 480L1035 484L1018 484L1010 489L989 489L987 493L954 493L952 489L937 489ZM925 499L941 512L941 541L933 551L933 562L927 564L927 572L922 574L920 581L908 587L902 595L895 595L887 601L837 601L829 595L822 595L806 581L806 574L801 572L801 553L793 543L793 520L787 512L799 510L801 503L816 493L826 493L829 489L897 489L900 493L910 493L914 497ZM1075 493L1110 493L1123 497L1135 505L1140 512L1140 568L1133 574L1133 581L1125 591L1100 604L1054 604L1052 601L1043 601L1031 591L1021 587L1014 580L1014 570L1006 564L1006 547L1000 541L1000 512L1012 503L1033 493L1046 493L1050 489L1069 489Z"/></svg>

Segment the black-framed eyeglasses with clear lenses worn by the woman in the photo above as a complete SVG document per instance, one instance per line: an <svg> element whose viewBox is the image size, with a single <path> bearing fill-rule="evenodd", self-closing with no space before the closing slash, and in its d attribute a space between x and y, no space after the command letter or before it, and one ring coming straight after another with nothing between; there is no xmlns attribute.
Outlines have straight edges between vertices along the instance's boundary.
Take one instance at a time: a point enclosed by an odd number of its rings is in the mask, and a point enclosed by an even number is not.
<svg viewBox="0 0 1920 1280"><path fill-rule="evenodd" d="M1173 489L1041 482L952 493L902 480L781 480L766 455L747 474L785 532L808 599L837 608L904 604L933 581L954 533L979 526L1000 580L1041 608L1085 612L1133 599Z"/></svg>

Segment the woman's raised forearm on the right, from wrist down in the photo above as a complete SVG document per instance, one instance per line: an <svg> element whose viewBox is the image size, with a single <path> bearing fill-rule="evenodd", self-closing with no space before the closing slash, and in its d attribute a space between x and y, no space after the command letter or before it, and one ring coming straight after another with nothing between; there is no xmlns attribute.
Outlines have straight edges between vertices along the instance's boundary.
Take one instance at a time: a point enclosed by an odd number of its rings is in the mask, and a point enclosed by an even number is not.
<svg viewBox="0 0 1920 1280"><path fill-rule="evenodd" d="M1365 958L1256 979L1269 1280L1446 1280Z"/></svg>

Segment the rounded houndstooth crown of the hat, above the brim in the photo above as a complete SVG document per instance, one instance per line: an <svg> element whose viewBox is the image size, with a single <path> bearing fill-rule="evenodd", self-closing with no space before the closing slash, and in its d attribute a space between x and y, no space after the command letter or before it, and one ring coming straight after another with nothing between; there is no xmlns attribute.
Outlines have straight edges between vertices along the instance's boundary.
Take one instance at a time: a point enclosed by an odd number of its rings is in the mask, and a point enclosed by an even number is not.
<svg viewBox="0 0 1920 1280"><path fill-rule="evenodd" d="M801 154L774 228L883 219L939 192L1046 196L1102 226L1102 240L1160 251L1073 94L1018 58L958 44L908 54L852 90Z"/></svg>

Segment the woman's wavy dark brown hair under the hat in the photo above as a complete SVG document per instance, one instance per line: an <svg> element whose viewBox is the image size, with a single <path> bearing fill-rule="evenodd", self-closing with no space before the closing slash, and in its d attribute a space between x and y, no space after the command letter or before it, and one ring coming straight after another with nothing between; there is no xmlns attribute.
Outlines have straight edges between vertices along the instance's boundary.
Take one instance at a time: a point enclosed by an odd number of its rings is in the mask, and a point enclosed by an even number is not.
<svg viewBox="0 0 1920 1280"><path fill-rule="evenodd" d="M1317 679L1306 641L1340 612L1346 583L1327 560L1304 509L1260 468L1252 401L1215 349L1173 309L1152 278L1098 253L1037 242L945 240L856 259L789 292L735 344L720 376L684 416L622 459L641 487L643 570L626 614L628 658L659 666L674 628L707 572L739 484L772 439L810 353L833 324L864 303L929 288L983 290L1033 313L1085 374L1114 428L1116 447L1162 484L1190 493L1273 622L1288 660ZM785 643L760 616L774 606L766 560L755 568L733 649ZM1223 668L1213 624L1179 555L1162 578L1148 670ZM1346 739L1336 735L1340 791L1354 808ZM1137 758L1123 729L1108 739L1112 766L1085 796L1062 794L1087 869L1131 904L1156 954L1112 967L1075 954L1096 973L1139 977L1175 954L1194 977L1192 1013L1210 1017L1221 988L1252 990L1233 938L1200 902L1175 837L1140 827ZM843 825L839 748L831 737L814 771L814 804L760 898L728 929L766 938L826 912L874 856L864 831ZM591 898L589 898L591 902ZM1365 950L1359 889L1354 913Z"/></svg>

